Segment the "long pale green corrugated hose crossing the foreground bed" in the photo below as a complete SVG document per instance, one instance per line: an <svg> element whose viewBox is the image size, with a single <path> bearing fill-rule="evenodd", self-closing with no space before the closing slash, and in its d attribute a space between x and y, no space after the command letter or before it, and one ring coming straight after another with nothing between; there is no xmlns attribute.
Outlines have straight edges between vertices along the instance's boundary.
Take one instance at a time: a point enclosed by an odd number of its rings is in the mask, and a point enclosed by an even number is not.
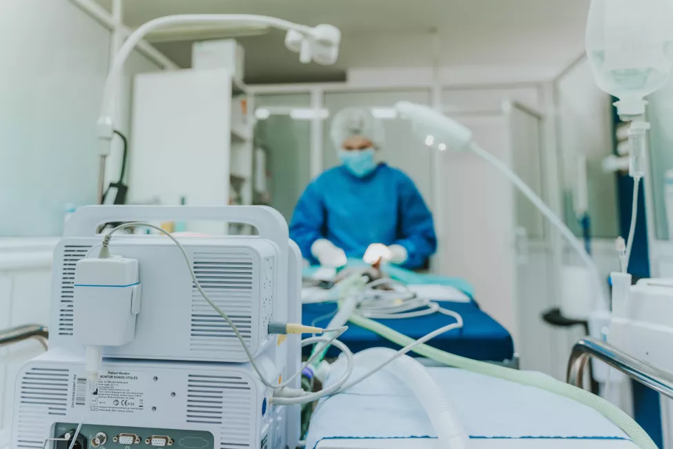
<svg viewBox="0 0 673 449"><path fill-rule="evenodd" d="M414 341L413 338L400 334L390 327L372 321L369 318L364 318L364 316L353 314L349 321L364 329L368 329L371 332L375 332L383 338L400 346L407 346ZM576 388L573 385L557 381L556 379L547 376L540 376L539 374L512 370L511 368L493 365L491 363L466 359L465 357L456 356L428 345L419 345L413 352L445 365L462 368L463 370L477 372L479 374L486 374L487 376L498 377L510 382L530 385L542 390L547 390L548 392L559 394L560 396L574 399L575 401L594 408L594 410L597 410L607 419L615 423L616 426L621 428L621 430L631 437L639 448L657 449L656 444L654 444L654 441L652 441L647 432L645 432L641 426L638 426L638 423L636 423L632 417L612 403L605 401L605 399L582 390L581 388Z"/></svg>

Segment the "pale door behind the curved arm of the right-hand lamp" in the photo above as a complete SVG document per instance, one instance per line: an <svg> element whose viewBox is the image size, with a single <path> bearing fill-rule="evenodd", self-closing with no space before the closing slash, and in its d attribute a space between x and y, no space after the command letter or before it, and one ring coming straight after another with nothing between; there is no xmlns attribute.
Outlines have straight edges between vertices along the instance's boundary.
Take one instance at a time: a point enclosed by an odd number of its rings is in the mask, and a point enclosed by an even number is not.
<svg viewBox="0 0 673 449"><path fill-rule="evenodd" d="M544 198L540 115L507 104L501 112L451 117ZM551 373L552 333L541 314L554 303L554 258L543 216L478 155L449 152L441 159L447 227L442 267L474 285L482 309L514 338L523 368Z"/></svg>

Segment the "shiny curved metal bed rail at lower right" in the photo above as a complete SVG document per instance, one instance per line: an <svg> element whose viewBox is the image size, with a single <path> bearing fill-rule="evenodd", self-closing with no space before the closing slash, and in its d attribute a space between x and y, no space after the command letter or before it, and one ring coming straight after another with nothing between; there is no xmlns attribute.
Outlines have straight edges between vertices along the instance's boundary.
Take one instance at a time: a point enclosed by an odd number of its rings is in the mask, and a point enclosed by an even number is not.
<svg viewBox="0 0 673 449"><path fill-rule="evenodd" d="M590 337L581 339L572 348L567 372L569 384L583 388L584 370L592 357L673 399L673 374L640 361L605 341Z"/></svg>

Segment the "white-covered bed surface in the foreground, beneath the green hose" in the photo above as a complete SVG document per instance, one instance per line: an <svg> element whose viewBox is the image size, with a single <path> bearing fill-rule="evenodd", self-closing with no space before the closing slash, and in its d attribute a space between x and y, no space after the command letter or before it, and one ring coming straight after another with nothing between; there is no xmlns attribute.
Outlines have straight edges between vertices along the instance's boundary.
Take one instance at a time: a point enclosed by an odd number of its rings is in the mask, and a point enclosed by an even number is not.
<svg viewBox="0 0 673 449"><path fill-rule="evenodd" d="M469 434L470 448L636 448L613 423L571 399L465 370L429 371ZM318 405L306 449L436 449L435 435L411 390L382 370Z"/></svg>

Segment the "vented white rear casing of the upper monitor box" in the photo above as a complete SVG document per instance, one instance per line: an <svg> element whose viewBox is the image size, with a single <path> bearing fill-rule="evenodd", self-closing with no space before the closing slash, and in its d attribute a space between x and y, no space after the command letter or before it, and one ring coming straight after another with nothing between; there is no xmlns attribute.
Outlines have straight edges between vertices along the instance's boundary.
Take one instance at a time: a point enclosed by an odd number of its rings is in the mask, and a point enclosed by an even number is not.
<svg viewBox="0 0 673 449"><path fill-rule="evenodd" d="M104 329L107 323L115 325L117 317L110 317L108 321L104 312L110 305L100 303L98 313L89 306L102 299L115 303L121 299L118 297L121 293L130 299L133 287L78 285L82 278L78 272L80 267L89 271L99 263L87 261L82 265L82 259L96 258L101 240L99 237L64 238L57 245L50 345L81 344L78 336L88 334L92 326ZM236 237L182 238L180 242L197 280L237 325L253 355L272 345L275 339L269 335L269 321L284 321L287 309L286 288L278 291L277 249L273 242ZM164 236L115 235L110 241L110 254L124 256L124 260L137 260L139 277L136 281L142 285L142 306L135 317L135 338L120 346L104 344L104 356L248 360L231 327L199 294L182 252L173 241ZM99 300L92 301L93 296L88 295L90 290L95 291ZM124 332L128 331L124 329Z"/></svg>

